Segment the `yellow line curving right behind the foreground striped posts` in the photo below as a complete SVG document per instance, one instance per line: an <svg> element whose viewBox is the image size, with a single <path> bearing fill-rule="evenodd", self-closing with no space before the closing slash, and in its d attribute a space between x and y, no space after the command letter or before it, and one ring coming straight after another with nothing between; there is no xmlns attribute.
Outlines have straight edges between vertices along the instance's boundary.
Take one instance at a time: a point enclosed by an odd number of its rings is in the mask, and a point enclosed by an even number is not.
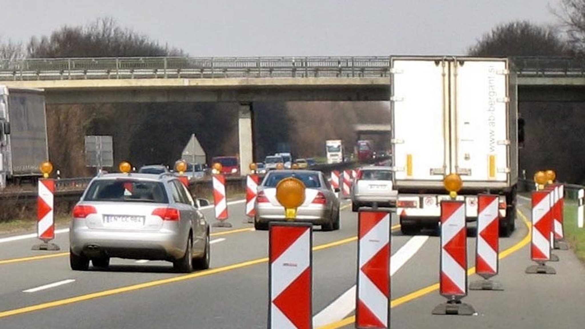
<svg viewBox="0 0 585 329"><path fill-rule="evenodd" d="M510 248L506 249L505 251L501 252L500 255L498 256L498 259L503 259L503 258L509 256L511 253L517 252L519 249L523 248L525 245L529 244L529 242L531 241L531 236L532 236L531 235L531 229L532 229L531 222L528 220L528 218L526 218L526 216L524 214L521 213L521 211L518 210L518 214L520 215L520 217L522 217L522 221L524 221L524 225L526 225L526 227L528 228L528 233L524 236L524 239L519 241L517 244L515 244L515 245L511 246ZM476 270L475 266L473 266L473 268L468 269L467 275L472 275L473 273L475 273L475 270ZM439 287L440 287L439 283L435 283L434 285L424 287L424 288L419 289L415 292L409 293L405 296L398 297L397 299L394 299L390 302L390 308L392 309L393 307L407 303L408 301L425 296L426 294L429 294L429 293L432 293L436 290L439 290ZM337 321L335 323L324 325L324 326L319 327L317 329L338 329L338 328L344 327L345 325L353 324L355 322L356 322L356 316L350 316L350 317L344 318L343 320Z"/></svg>

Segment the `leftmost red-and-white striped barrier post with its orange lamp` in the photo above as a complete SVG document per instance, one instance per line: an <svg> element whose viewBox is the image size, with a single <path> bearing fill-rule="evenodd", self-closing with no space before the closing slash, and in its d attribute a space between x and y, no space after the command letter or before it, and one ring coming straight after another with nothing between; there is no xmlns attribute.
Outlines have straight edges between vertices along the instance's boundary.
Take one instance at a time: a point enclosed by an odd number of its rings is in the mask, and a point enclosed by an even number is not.
<svg viewBox="0 0 585 329"><path fill-rule="evenodd" d="M43 172L42 179L39 179L39 194L37 196L37 238L43 241L42 244L32 246L32 250L59 250L59 246L49 243L55 238L54 223L54 194L55 180L50 179L49 174L53 171L53 165L50 162L43 162L40 165Z"/></svg>

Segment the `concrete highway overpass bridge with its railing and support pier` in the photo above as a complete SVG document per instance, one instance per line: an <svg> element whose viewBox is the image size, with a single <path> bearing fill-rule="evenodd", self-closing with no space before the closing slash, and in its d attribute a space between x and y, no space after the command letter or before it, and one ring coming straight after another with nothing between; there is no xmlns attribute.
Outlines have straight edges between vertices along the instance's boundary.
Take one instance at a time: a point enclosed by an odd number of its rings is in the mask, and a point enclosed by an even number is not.
<svg viewBox="0 0 585 329"><path fill-rule="evenodd" d="M513 57L518 101L585 101L585 61ZM49 104L238 102L242 172L254 101L389 101L390 56L106 57L0 60L0 84L43 88Z"/></svg>

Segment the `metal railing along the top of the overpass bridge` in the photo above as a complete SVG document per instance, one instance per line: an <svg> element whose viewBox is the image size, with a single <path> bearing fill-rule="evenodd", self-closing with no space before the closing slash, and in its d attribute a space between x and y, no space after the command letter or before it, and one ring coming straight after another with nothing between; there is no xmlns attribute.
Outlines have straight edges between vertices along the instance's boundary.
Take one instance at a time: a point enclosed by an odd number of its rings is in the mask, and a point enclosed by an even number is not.
<svg viewBox="0 0 585 329"><path fill-rule="evenodd" d="M81 57L0 60L0 81L122 78L388 77L391 56ZM511 57L526 77L583 77L585 59Z"/></svg>

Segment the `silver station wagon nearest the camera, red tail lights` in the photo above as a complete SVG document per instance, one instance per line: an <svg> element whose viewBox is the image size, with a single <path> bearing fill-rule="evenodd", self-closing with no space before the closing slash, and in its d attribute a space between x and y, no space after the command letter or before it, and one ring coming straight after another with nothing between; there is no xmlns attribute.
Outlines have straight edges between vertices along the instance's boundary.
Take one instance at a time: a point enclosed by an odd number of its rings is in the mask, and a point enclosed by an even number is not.
<svg viewBox="0 0 585 329"><path fill-rule="evenodd" d="M94 177L73 208L69 261L87 270L111 258L173 262L178 272L209 268L209 224L173 174L112 173Z"/></svg>

